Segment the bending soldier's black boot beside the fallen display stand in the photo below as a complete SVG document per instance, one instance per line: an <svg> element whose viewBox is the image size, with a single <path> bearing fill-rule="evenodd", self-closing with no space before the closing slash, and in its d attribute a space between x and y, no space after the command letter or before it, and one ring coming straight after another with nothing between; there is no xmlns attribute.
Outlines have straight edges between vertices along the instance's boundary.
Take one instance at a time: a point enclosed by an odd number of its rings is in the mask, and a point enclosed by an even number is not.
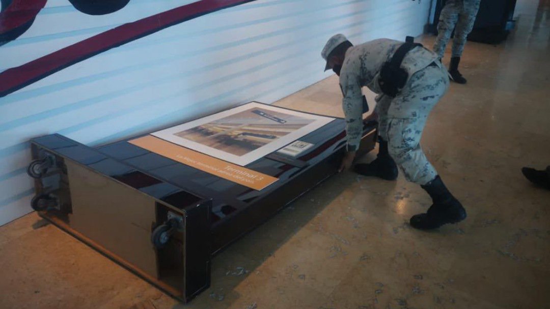
<svg viewBox="0 0 550 309"><path fill-rule="evenodd" d="M386 180L395 180L399 173L397 164L389 155L388 142L379 139L378 155L368 164L356 164L355 172L364 176L375 176Z"/></svg>

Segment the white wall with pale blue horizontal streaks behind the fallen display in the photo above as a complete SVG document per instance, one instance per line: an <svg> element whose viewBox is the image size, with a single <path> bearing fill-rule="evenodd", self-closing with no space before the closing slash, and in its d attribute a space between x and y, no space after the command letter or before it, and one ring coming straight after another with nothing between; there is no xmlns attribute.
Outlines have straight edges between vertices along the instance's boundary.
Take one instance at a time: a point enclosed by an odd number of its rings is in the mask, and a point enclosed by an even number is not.
<svg viewBox="0 0 550 309"><path fill-rule="evenodd" d="M50 0L0 71L193 1L131 0L91 16ZM0 224L30 211L27 141L61 133L97 145L229 106L272 103L329 76L328 37L353 43L419 35L430 3L412 0L258 0L168 27L64 68L0 98ZM337 87L337 86L335 86Z"/></svg>

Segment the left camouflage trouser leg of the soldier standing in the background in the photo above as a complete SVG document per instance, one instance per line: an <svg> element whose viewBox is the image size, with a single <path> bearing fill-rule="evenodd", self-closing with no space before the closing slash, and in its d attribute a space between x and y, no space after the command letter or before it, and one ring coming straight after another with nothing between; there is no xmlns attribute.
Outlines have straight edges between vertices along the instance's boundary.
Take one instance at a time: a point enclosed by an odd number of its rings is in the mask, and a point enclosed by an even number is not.
<svg viewBox="0 0 550 309"><path fill-rule="evenodd" d="M445 47L447 47L450 35L458 21L458 15L462 8L459 2L457 0L448 1L439 14L437 38L433 44L433 51L439 56L439 59L443 58Z"/></svg>

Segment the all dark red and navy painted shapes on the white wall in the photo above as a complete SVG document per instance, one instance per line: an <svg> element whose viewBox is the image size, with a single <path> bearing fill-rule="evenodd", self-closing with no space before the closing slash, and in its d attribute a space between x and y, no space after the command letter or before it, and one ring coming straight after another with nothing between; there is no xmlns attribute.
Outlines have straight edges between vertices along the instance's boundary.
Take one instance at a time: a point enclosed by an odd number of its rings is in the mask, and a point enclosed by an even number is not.
<svg viewBox="0 0 550 309"><path fill-rule="evenodd" d="M69 0L84 14L105 15L123 9L130 0ZM86 38L56 52L0 73L0 97L17 91L70 65L122 44L138 40L186 20L256 0L201 0L151 15ZM17 40L34 22L47 0L1 0L0 48Z"/></svg>

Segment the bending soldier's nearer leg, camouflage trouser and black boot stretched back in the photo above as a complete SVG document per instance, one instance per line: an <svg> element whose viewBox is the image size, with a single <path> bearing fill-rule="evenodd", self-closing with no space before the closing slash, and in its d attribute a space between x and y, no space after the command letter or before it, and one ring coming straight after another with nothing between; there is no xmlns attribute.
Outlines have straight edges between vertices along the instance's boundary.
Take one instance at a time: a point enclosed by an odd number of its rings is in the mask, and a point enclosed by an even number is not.
<svg viewBox="0 0 550 309"><path fill-rule="evenodd" d="M411 77L402 94L388 111L389 151L405 177L418 183L430 194L433 205L425 214L412 216L410 224L433 229L466 218L460 202L450 194L441 177L420 148L422 130L433 106L447 91L449 80L443 68L430 66Z"/></svg>

